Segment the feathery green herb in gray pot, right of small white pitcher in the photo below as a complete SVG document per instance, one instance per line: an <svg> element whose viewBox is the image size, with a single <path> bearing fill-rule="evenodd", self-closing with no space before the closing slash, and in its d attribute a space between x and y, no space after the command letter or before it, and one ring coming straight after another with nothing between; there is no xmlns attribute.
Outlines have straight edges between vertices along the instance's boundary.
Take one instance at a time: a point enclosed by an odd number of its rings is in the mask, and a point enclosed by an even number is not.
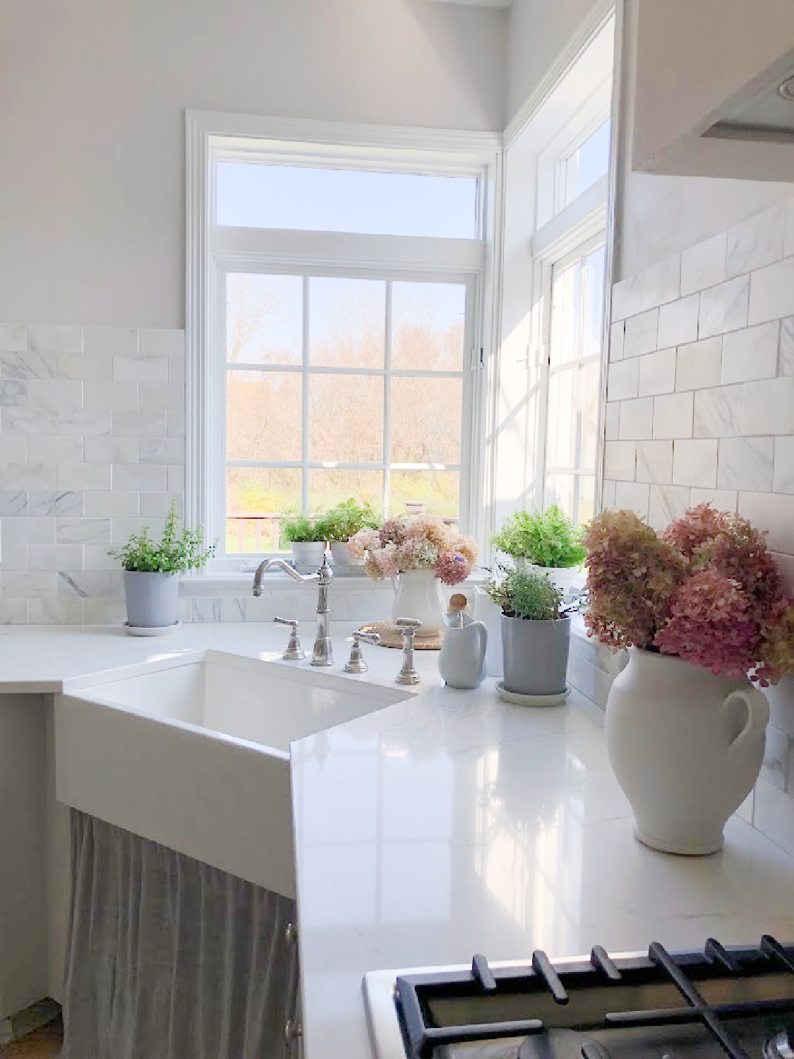
<svg viewBox="0 0 794 1059"><path fill-rule="evenodd" d="M485 587L502 608L504 690L564 695L571 618L560 616L562 593L548 574L533 567L500 567Z"/></svg>

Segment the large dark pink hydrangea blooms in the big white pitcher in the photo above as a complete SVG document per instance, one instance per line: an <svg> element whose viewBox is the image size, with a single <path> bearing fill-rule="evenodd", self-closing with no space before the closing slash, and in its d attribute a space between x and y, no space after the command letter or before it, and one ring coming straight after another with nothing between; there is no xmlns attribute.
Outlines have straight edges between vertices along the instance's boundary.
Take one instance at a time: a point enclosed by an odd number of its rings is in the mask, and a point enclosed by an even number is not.
<svg viewBox="0 0 794 1059"><path fill-rule="evenodd" d="M582 543L589 635L761 686L794 670L794 599L746 519L699 504L660 536L632 511L607 510Z"/></svg>

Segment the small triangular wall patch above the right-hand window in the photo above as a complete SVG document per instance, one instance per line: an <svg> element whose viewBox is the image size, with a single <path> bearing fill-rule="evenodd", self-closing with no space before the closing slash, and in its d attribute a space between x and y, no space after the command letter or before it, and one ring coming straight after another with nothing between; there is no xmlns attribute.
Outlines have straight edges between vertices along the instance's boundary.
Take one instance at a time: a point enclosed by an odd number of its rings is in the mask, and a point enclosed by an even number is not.
<svg viewBox="0 0 794 1059"><path fill-rule="evenodd" d="M552 66L593 3L594 0L513 0L508 36L508 120Z"/></svg>

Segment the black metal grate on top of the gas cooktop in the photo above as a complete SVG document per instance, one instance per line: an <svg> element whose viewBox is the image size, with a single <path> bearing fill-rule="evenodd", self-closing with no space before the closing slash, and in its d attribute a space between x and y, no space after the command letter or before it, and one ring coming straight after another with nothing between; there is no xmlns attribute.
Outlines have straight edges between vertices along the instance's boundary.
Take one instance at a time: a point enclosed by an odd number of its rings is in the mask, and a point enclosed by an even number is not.
<svg viewBox="0 0 794 1059"><path fill-rule="evenodd" d="M626 1006L629 991L650 1003ZM725 1055L750 1059L729 1022L794 1011L794 946L769 934L757 948L728 949L709 938L703 952L671 955L654 941L647 957L616 961L596 946L588 963L557 967L538 950L530 967L506 970L492 970L477 954L470 972L398 977L396 1004L410 1059L431 1059L441 1045L556 1027L587 1034L681 1023L700 1023ZM597 1043L584 1044L582 1055L609 1059Z"/></svg>

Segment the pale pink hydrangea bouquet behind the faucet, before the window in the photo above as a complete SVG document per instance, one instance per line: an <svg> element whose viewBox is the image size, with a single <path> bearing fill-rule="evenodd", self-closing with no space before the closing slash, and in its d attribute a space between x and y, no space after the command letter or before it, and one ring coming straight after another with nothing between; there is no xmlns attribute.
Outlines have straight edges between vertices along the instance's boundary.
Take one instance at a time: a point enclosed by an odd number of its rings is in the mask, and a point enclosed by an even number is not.
<svg viewBox="0 0 794 1059"><path fill-rule="evenodd" d="M386 519L380 530L360 530L347 546L376 581L409 570L434 570L445 585L458 585L474 569L477 555L473 537L461 536L434 515Z"/></svg>

